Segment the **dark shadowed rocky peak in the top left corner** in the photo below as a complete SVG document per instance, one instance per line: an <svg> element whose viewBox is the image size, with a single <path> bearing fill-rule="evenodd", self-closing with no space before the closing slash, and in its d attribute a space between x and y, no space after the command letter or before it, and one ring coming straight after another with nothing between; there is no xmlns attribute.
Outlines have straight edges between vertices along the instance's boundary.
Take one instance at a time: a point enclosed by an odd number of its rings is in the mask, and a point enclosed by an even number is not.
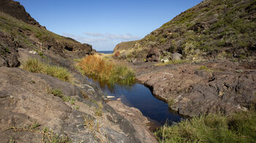
<svg viewBox="0 0 256 143"><path fill-rule="evenodd" d="M22 5L20 5L18 1L1 0L0 11L7 13L8 15L11 15L12 17L17 18L18 20L23 20L23 22L25 23L42 27L36 20L34 20L34 18L31 18L29 13L26 12L25 8Z"/></svg>

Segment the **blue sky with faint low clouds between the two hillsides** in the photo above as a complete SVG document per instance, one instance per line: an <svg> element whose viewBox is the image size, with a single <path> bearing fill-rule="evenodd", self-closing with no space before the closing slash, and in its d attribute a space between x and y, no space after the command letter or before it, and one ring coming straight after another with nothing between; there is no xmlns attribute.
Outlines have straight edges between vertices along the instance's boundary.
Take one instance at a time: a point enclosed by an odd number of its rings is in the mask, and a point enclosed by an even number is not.
<svg viewBox="0 0 256 143"><path fill-rule="evenodd" d="M202 0L15 0L49 31L113 50L142 39Z"/></svg>

